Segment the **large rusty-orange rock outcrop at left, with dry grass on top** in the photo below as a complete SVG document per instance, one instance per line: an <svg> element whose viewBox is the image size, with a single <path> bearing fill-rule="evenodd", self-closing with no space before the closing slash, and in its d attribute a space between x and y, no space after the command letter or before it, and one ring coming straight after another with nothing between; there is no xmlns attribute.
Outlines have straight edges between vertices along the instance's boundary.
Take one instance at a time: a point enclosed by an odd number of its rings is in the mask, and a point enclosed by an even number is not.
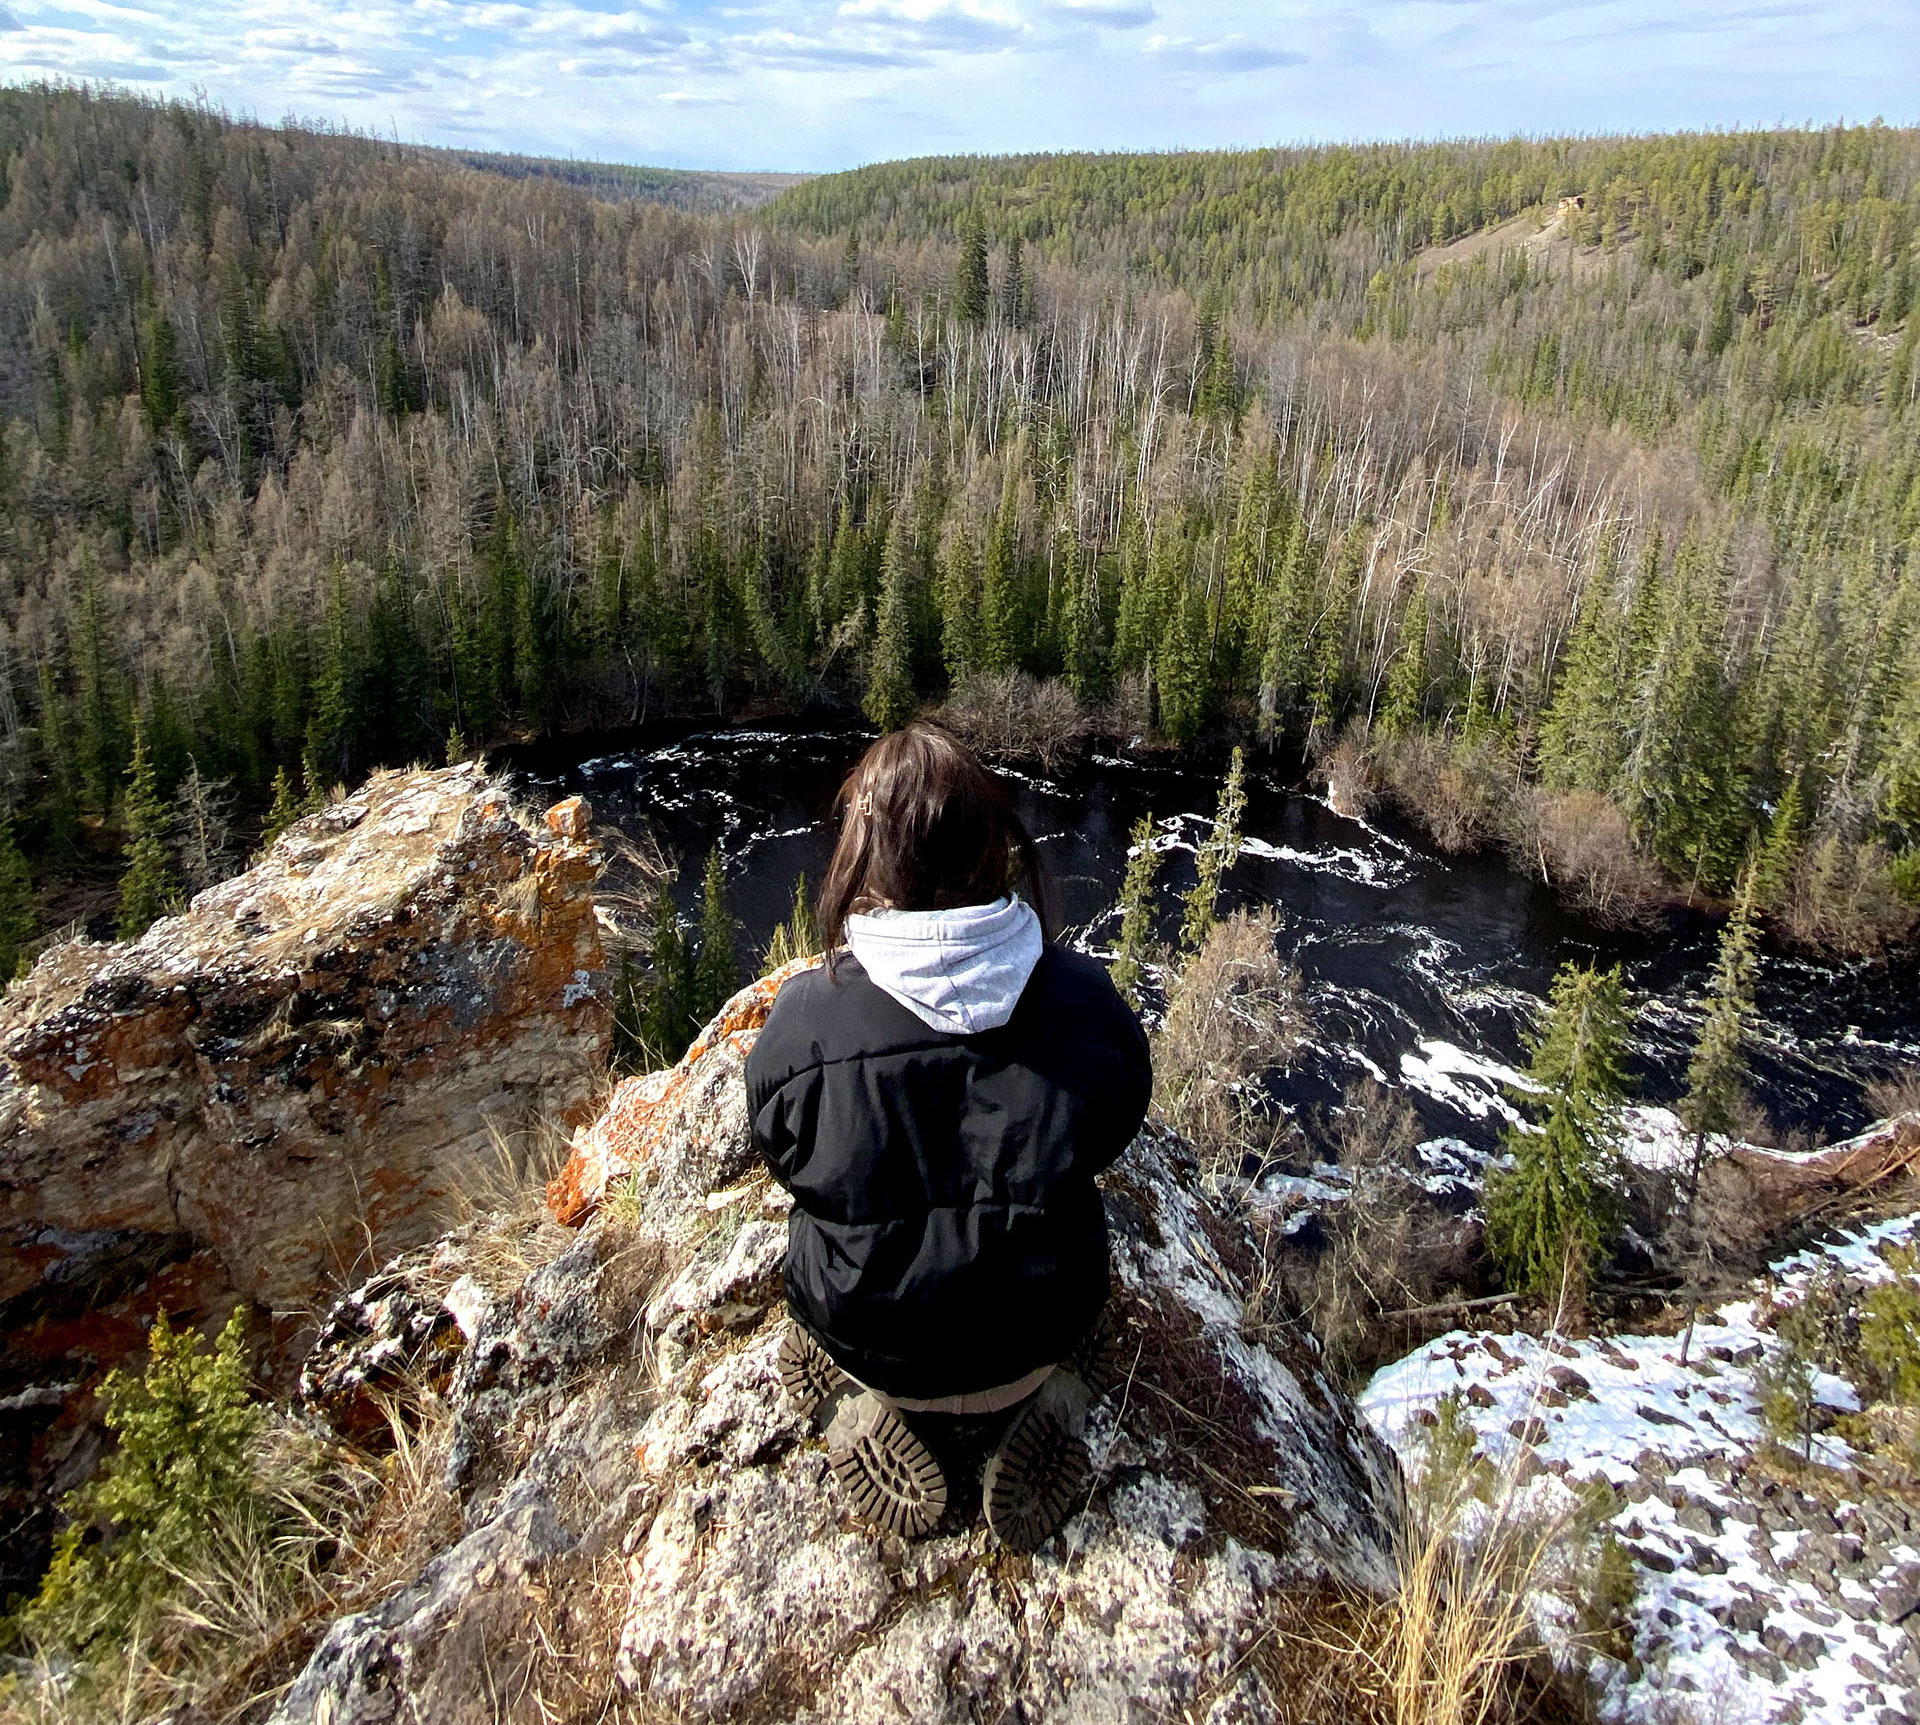
<svg viewBox="0 0 1920 1725"><path fill-rule="evenodd" d="M56 947L8 991L10 1471L84 1475L44 1427L154 1310L248 1300L288 1356L355 1264L449 1226L495 1131L582 1118L611 1037L599 870L584 805L522 818L476 765L378 774L142 939Z"/></svg>

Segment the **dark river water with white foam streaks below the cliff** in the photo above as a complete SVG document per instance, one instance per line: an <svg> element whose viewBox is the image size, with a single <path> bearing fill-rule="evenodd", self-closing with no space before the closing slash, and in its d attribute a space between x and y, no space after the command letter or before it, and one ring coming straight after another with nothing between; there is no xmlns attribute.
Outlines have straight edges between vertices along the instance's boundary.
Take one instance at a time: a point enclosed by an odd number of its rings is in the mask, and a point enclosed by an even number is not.
<svg viewBox="0 0 1920 1725"><path fill-rule="evenodd" d="M708 847L720 845L743 955L785 918L793 880L818 884L833 845L833 791L858 759L858 732L703 732L607 753L524 763L551 795L582 791L603 824L645 830L680 864L691 909ZM1221 766L1094 753L1052 780L1006 774L1052 872L1062 937L1112 947L1114 901L1133 822L1152 813L1164 934L1179 922ZM1620 962L1640 1010L1640 1099L1672 1101L1699 1020L1715 928L1674 918L1611 934L1569 914L1536 880L1492 859L1442 859L1384 818L1348 820L1248 765L1246 849L1225 907L1271 905L1298 964L1311 1045L1275 1093L1313 1131L1356 1078L1404 1087L1432 1135L1486 1147L1503 1124L1501 1078L1524 1062L1553 972L1567 959ZM1839 1139L1870 1120L1862 1081L1920 1062L1920 966L1830 966L1766 953L1749 1041L1753 1091L1780 1131Z"/></svg>

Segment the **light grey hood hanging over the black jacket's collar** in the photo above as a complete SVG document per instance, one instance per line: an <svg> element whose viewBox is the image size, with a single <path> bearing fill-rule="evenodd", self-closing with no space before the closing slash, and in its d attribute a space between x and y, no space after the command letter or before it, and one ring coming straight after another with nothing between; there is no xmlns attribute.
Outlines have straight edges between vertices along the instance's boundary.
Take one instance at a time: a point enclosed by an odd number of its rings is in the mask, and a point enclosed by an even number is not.
<svg viewBox="0 0 1920 1725"><path fill-rule="evenodd" d="M1041 918L1018 897L956 911L877 911L847 918L847 945L922 1024L973 1035L1014 1016L1041 962Z"/></svg>

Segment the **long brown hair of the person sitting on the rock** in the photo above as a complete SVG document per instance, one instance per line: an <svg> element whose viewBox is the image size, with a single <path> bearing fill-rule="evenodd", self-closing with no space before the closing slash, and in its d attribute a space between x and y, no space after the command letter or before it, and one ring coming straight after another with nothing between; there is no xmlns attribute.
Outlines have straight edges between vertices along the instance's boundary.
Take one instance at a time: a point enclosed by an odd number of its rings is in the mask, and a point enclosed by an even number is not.
<svg viewBox="0 0 1920 1725"><path fill-rule="evenodd" d="M916 718L874 743L833 799L841 836L820 886L828 964L862 911L952 911L1025 886L1052 937L1046 874L998 774L950 730Z"/></svg>

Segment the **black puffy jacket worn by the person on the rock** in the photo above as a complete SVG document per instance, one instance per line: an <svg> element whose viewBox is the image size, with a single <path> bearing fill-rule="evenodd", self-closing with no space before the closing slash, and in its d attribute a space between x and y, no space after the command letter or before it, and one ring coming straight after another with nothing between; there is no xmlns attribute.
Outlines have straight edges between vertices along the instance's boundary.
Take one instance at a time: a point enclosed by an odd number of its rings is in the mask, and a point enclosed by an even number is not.
<svg viewBox="0 0 1920 1725"><path fill-rule="evenodd" d="M851 957L839 982L791 978L747 1055L747 1106L793 1193L793 1316L900 1397L1060 1360L1106 1300L1094 1176L1150 1089L1139 1020L1104 966L1062 947L979 1035L929 1030Z"/></svg>

